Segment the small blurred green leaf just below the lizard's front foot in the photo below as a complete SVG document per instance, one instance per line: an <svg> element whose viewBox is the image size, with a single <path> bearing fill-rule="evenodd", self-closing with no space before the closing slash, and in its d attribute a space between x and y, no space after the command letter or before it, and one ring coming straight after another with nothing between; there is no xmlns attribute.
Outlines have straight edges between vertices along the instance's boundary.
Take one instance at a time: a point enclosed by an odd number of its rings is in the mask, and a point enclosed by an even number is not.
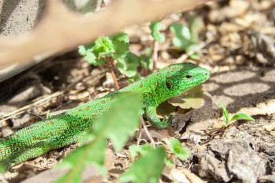
<svg viewBox="0 0 275 183"><path fill-rule="evenodd" d="M180 160L186 160L189 156L188 150L184 148L177 138L170 139L170 150L179 158Z"/></svg>

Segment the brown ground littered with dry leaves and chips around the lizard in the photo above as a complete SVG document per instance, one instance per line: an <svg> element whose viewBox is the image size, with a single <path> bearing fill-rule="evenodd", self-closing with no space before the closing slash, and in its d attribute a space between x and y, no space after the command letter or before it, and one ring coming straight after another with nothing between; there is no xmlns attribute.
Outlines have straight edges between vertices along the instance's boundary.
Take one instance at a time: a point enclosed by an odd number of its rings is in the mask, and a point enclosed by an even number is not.
<svg viewBox="0 0 275 183"><path fill-rule="evenodd" d="M185 62L208 69L211 76L203 84L205 100L200 108L174 110L175 120L169 129L149 127L155 142L165 145L174 136L190 154L184 162L172 156L175 166L164 168L162 182L275 182L274 7L274 1L231 0L208 3L192 12L203 24L199 40L204 46L197 51L200 60ZM171 14L162 20L167 40L172 36L168 25L186 25L189 13L181 17ZM130 50L137 55L153 45L148 25L125 29L130 35ZM157 69L178 62L184 55L169 41L164 42ZM115 74L120 86L126 86L126 78L118 71ZM28 112L45 117L48 110L56 114L114 91L107 67L89 66L77 51L49 58L0 86L1 136L39 121ZM234 121L223 130L219 101L231 116L245 112L255 121ZM149 141L142 130L142 142ZM129 167L132 158L127 147L134 143L136 138L129 139L121 152L114 152L109 144L107 178L87 167L83 181L117 182ZM52 182L67 172L53 171L52 167L75 148L70 145L23 162L1 180Z"/></svg>

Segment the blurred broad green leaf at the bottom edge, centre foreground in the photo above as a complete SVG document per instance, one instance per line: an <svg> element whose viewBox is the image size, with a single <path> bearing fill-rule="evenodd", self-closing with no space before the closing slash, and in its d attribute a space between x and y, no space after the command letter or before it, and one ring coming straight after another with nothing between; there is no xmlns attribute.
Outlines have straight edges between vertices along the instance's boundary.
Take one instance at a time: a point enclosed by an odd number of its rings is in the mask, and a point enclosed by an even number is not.
<svg viewBox="0 0 275 183"><path fill-rule="evenodd" d="M135 161L131 169L122 174L119 182L157 183L164 168L165 148L157 147Z"/></svg>

